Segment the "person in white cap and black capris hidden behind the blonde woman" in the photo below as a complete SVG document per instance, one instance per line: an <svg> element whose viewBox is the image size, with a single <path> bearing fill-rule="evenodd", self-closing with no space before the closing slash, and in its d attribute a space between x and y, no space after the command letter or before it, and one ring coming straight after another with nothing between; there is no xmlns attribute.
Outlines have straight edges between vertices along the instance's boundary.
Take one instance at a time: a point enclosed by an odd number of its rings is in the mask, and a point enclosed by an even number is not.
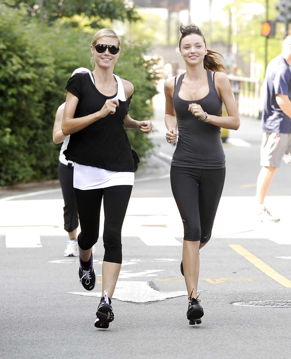
<svg viewBox="0 0 291 359"><path fill-rule="evenodd" d="M76 73L91 72L85 67L79 67L73 71L72 76ZM62 132L62 118L65 108L65 102L59 106L56 112L56 118L53 125L53 141L55 144L62 142L62 148L59 153L59 167L58 178L62 188L63 199L65 202L64 207L64 228L68 232L69 240L67 248L64 252L65 257L75 257L78 255L78 242L77 242L77 227L79 225L78 210L75 199L74 187L73 187L73 169L74 163L67 161L63 151L67 149L67 145L70 140L70 135L65 136ZM93 248L92 252L95 252Z"/></svg>

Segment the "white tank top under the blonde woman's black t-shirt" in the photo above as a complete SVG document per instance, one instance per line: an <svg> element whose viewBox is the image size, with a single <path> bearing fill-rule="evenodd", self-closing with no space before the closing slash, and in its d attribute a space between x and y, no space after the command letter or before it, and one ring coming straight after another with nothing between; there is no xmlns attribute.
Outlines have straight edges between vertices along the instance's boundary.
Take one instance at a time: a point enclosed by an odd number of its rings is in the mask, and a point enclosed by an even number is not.
<svg viewBox="0 0 291 359"><path fill-rule="evenodd" d="M92 73L89 72L89 75L95 85ZM126 101L122 81L119 76L114 75L114 77L117 81L117 95L114 98ZM133 186L133 183L134 172L108 171L108 169L85 166L75 162L73 186L79 190L94 190L123 185Z"/></svg>

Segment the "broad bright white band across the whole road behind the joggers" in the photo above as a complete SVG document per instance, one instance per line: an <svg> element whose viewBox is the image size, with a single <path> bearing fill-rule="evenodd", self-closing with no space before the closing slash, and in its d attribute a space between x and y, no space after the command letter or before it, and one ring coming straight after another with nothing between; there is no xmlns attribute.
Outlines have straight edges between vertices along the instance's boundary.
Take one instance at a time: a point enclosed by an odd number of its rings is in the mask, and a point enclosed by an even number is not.
<svg viewBox="0 0 291 359"><path fill-rule="evenodd" d="M266 197L266 205L272 212L277 211L276 215L281 220L278 223L258 223L255 197L221 197L212 237L262 238L278 244L291 244L290 200L290 196ZM104 213L101 210L100 236L103 233L103 225ZM156 225L165 227L155 227ZM15 230L12 231L11 227ZM24 232L29 234L24 236ZM22 247L32 246L31 236L67 238L67 232L63 229L63 200L2 201L0 235L5 236L6 233L8 233L8 246L14 241L14 247L17 243ZM13 234L14 239L11 237ZM176 238L183 237L183 222L175 200L172 197L130 199L122 236L139 237L145 244L151 246L181 246ZM25 241L28 241L28 244L24 244ZM36 244L40 243L39 239L34 239L32 242L33 246L39 247L39 244Z"/></svg>

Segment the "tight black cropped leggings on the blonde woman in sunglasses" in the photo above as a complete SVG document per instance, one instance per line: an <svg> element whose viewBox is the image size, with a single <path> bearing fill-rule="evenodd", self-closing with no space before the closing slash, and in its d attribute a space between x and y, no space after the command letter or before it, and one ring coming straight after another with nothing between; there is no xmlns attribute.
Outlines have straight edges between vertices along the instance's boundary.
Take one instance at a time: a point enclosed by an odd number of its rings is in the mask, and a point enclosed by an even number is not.
<svg viewBox="0 0 291 359"><path fill-rule="evenodd" d="M103 260L121 264L121 227L131 192L132 186L127 185L96 190L78 190L75 188L81 226L78 244L82 250L90 249L98 240L103 197L105 216L103 232L105 253Z"/></svg>

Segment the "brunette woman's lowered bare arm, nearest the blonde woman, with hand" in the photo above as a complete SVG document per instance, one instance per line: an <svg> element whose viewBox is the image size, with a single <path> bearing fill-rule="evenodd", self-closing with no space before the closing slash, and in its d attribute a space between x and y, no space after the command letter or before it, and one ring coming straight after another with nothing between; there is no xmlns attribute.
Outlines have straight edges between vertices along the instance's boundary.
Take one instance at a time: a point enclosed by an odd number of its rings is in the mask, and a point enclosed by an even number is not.
<svg viewBox="0 0 291 359"><path fill-rule="evenodd" d="M166 139L168 143L175 143L178 135L177 118L173 105L175 78L169 78L164 84L164 93L166 97L165 125L167 127Z"/></svg>

